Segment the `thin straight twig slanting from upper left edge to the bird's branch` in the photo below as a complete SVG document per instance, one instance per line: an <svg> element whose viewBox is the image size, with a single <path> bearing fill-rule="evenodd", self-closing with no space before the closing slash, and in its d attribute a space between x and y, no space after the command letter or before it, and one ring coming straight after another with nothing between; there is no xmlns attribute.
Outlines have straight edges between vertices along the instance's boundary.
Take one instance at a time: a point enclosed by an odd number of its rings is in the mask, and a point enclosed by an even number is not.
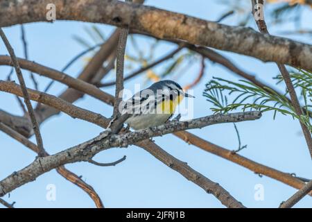
<svg viewBox="0 0 312 222"><path fill-rule="evenodd" d="M29 100L25 80L24 80L23 74L21 74L21 69L19 67L19 62L17 62L17 58L15 56L14 50L12 49L10 42L8 42L8 39L6 38L6 34L3 32L2 28L0 28L0 36L4 44L6 45L6 48L8 49L8 52L10 53L12 62L14 64L15 72L17 74L17 78L19 79L19 84L21 85L21 91L23 92L24 102L26 103L28 114L31 117L31 122L33 123L33 130L35 132L37 146L40 148L40 152L38 153L38 155L42 156L44 155L44 146L43 146L42 137L40 134L40 128L39 128L37 119L35 117L35 112L33 111L33 106L31 105L31 101Z"/></svg>

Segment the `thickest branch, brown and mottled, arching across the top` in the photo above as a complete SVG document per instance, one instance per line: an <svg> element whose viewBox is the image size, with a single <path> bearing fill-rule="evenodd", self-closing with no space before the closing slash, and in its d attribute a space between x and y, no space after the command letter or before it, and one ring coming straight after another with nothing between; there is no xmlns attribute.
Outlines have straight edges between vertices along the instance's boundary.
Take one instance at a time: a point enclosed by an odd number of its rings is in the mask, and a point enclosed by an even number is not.
<svg viewBox="0 0 312 222"><path fill-rule="evenodd" d="M1 3L0 26L46 22L49 0ZM252 30L208 22L175 12L135 3L108 0L55 0L58 20L111 24L137 29L159 38L184 40L191 44L241 53L263 61L301 67L312 71L312 46L283 37L263 35ZM92 11L92 13L90 13ZM130 23L131 21L131 23Z"/></svg>

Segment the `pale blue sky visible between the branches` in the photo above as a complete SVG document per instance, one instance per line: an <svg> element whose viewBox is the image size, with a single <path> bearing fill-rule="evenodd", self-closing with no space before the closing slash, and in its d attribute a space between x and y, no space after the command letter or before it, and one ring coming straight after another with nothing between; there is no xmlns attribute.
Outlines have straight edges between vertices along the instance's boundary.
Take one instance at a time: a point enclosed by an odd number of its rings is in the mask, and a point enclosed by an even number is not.
<svg viewBox="0 0 312 222"><path fill-rule="evenodd" d="M203 19L216 20L228 9L227 6L216 2L148 0L146 4ZM310 9L304 11L304 20L311 21L311 12ZM236 16L225 19L223 23L235 24L235 22L237 22ZM311 29L311 23L303 22L303 25ZM85 26L89 26L89 24L83 22L27 24L25 28L30 60L35 60L35 62L53 69L62 69L73 56L84 49L73 40L73 35L83 36L92 42L87 33L82 31ZM253 22L250 23L250 26L255 28ZM109 35L113 30L112 26L98 24L98 27L106 35ZM272 34L278 35L278 31L283 28L292 29L293 24L270 29ZM12 26L5 28L4 31L17 56L22 57L20 27ZM311 37L291 37L311 44ZM141 41L140 46L144 49L148 40L145 37L140 37L138 40ZM157 48L155 57L160 57L175 47L173 44L163 43ZM127 48L128 52L131 50L131 47ZM257 74L257 78L266 81L266 83L274 83L272 77L276 76L278 71L273 63L263 63L234 53L221 53L230 57L246 71ZM7 54L1 41L0 54ZM199 63L199 61L194 62L184 77L179 79L181 85L190 83L196 78L200 68ZM67 74L77 76L84 64L84 60L79 60L67 70ZM160 69L162 67L157 67L155 71ZM9 70L8 67L0 67L1 79L6 78ZM128 71L125 70L125 74L127 73ZM24 76L28 76L28 71L24 71ZM212 76L228 78L229 80L239 79L227 69L207 62L205 78L194 89L196 96L194 99L194 117L211 114L210 104L202 96L202 92L205 83ZM36 77L40 82L40 90L43 90L49 80L44 77ZM130 80L125 84L125 87L132 89L135 83L143 83L142 78ZM27 85L33 87L29 78L27 78ZM64 89L66 89L64 85L56 83L49 92L58 95ZM104 90L111 94L114 93L114 87ZM106 117L112 114L110 106L90 96L85 96L75 104L99 112ZM0 92L0 108L13 114L21 114L15 97L3 92ZM278 114L275 121L272 121L272 113L268 112L257 121L242 122L238 123L237 126L241 133L242 143L248 144L248 148L241 151L241 155L284 172L297 173L297 176L312 178L311 158L297 121L281 114ZM101 132L101 128L86 121L72 119L66 114L60 114L45 121L41 126L41 132L46 151L56 153L95 137ZM191 130L191 132L231 150L238 146L232 123L209 126L202 130ZM31 140L35 141L33 137ZM195 146L189 146L173 135L157 137L155 141L171 155L188 162L189 166L196 171L220 183L232 196L247 207L278 207L282 200L286 200L296 191L277 180L272 180L266 176L260 178L248 169L202 151ZM33 162L34 153L1 132L0 142L0 179ZM101 196L105 207L223 207L214 196L206 194L200 187L183 178L180 173L169 169L155 157L136 146L130 146L126 149L112 148L96 155L95 160L111 162L123 155L127 155L127 160L116 167L96 167L92 164L76 163L67 165L67 168L78 175L82 175L83 180L94 187ZM56 187L55 201L46 200L46 186L49 184ZM264 187L263 201L254 199L254 186L257 184ZM94 203L87 194L72 185L71 182L64 180L54 170L45 173L34 182L29 182L15 189L10 193L10 197L6 195L4 199L8 202L16 201L16 207L94 207ZM0 205L0 207L2 206ZM312 198L309 196L303 198L296 207L312 207Z"/></svg>

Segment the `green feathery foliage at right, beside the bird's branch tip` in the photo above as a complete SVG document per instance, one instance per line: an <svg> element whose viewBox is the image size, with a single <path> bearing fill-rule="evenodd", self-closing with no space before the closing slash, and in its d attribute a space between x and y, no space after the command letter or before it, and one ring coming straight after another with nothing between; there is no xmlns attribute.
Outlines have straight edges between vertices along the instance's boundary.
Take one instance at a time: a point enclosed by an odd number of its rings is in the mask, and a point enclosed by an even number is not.
<svg viewBox="0 0 312 222"><path fill-rule="evenodd" d="M276 77L278 83L283 80L282 76ZM288 100L288 92L278 94L274 90L265 87L261 88L247 80L239 80L238 83L223 78L213 78L206 85L204 96L207 97L212 105L211 110L214 112L229 112L232 110L259 110L261 112L274 112L275 119L277 112L290 115L295 119L299 119L306 125L310 131L312 126L309 113L311 112L312 103L312 74L299 70L291 73L291 79L296 89L301 92L301 100L303 101L305 110L301 116L295 113L295 109Z"/></svg>

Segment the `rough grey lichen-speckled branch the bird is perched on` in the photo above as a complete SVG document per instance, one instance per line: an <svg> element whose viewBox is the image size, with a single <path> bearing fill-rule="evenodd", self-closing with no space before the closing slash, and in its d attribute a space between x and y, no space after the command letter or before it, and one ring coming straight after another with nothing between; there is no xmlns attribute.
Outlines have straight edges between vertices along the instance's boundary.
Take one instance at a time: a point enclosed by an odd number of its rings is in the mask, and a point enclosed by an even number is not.
<svg viewBox="0 0 312 222"><path fill-rule="evenodd" d="M254 120L259 119L260 117L261 112L238 112L233 114L216 114L208 117L193 119L191 121L171 121L162 126L137 130L135 132L125 133L124 135L107 134L106 131L94 139L90 139L89 141L79 144L78 146L68 148L60 153L46 157L38 157L33 163L28 165L28 167L12 173L10 176L0 181L0 197L4 196L13 189L26 184L27 182L35 180L35 178L43 173L46 173L47 171L51 171L51 169L73 162L88 161L91 157L96 155L96 153L108 148L124 147L130 144L136 144L137 142L141 142L150 137L174 133L179 130L202 128L204 126L230 121L236 122Z"/></svg>

